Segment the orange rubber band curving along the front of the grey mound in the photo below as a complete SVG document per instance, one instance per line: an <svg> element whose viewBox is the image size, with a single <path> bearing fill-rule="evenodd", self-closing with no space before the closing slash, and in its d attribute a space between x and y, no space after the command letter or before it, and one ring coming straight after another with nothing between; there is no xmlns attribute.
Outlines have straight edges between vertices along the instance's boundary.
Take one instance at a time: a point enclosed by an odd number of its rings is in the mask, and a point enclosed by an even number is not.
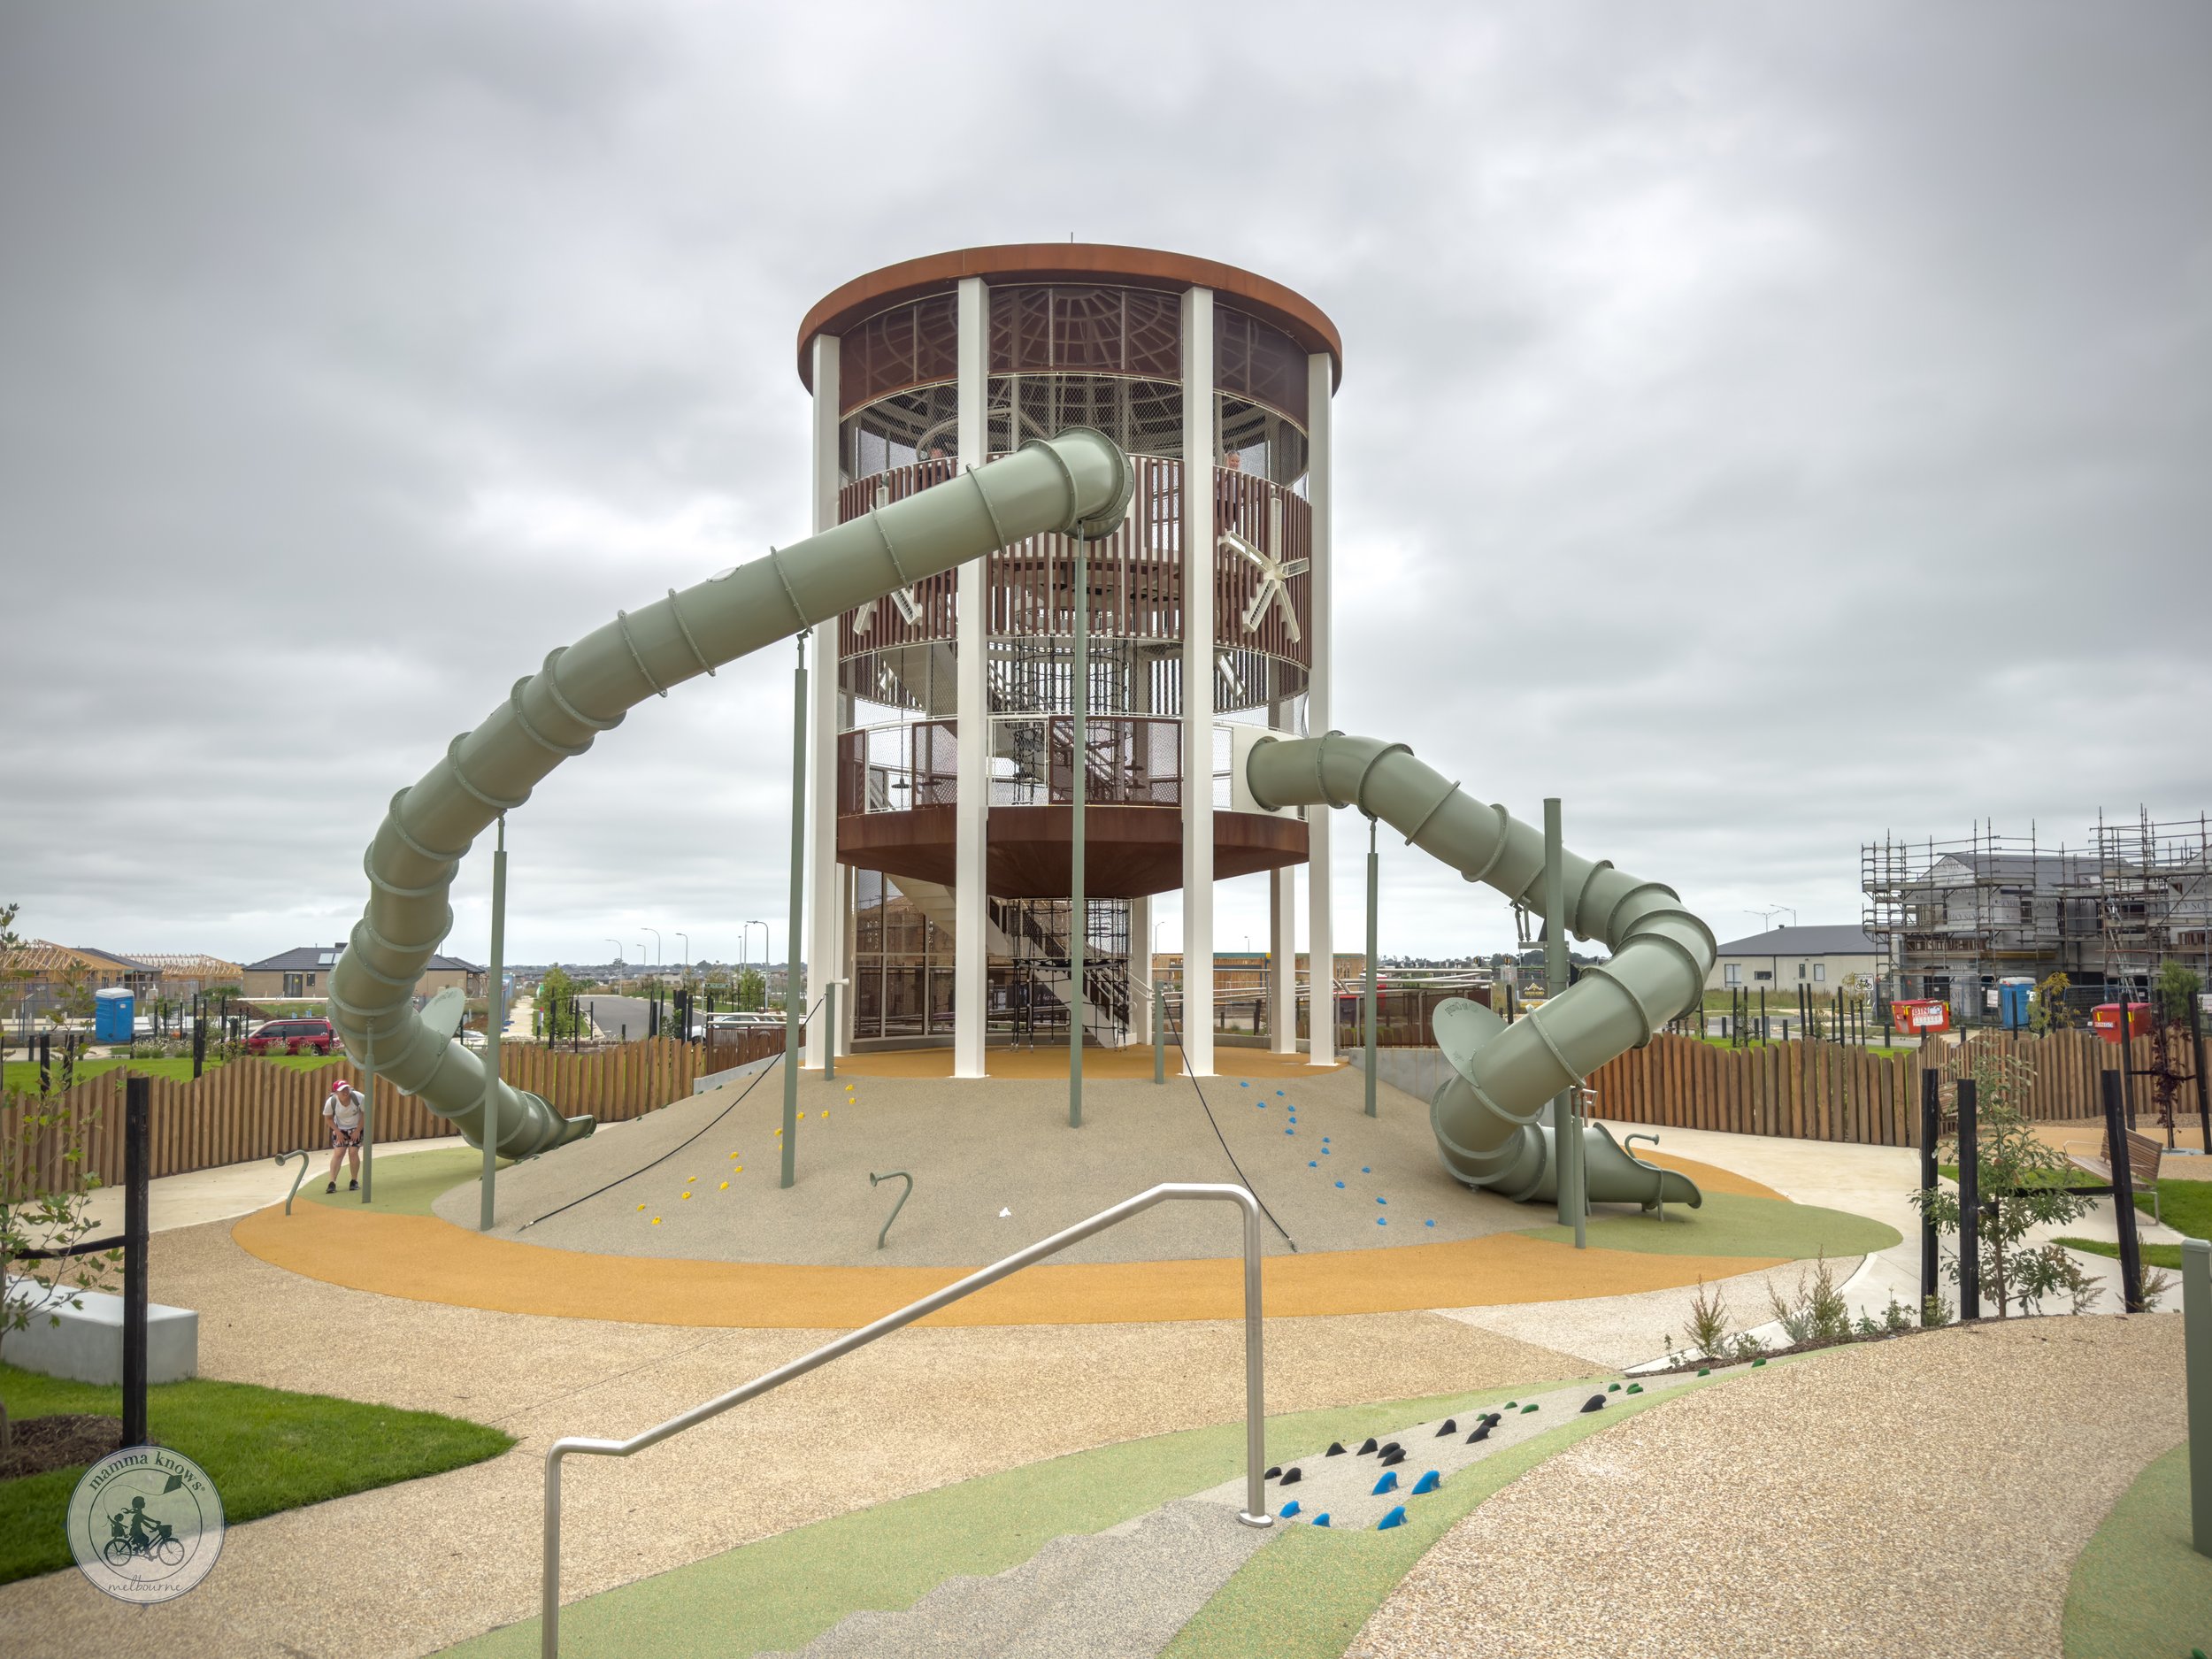
<svg viewBox="0 0 2212 1659"><path fill-rule="evenodd" d="M639 1261L487 1239L436 1217L283 1206L243 1217L230 1234L276 1267L407 1301L509 1314L639 1325L852 1329L960 1279L958 1267L805 1267L745 1261ZM1026 1243L1026 1239L1022 1241ZM1568 1301L1692 1285L1781 1256L1668 1256L1559 1250L1498 1232L1398 1250L1274 1256L1270 1316L1385 1314ZM1121 1325L1239 1318L1243 1263L1040 1263L953 1307L931 1325Z"/></svg>

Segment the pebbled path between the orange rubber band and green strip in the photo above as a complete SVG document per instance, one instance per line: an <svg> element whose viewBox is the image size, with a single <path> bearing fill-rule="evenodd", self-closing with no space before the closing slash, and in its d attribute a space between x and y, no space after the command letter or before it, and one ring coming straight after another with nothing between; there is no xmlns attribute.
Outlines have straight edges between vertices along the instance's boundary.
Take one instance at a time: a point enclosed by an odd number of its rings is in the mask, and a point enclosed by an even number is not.
<svg viewBox="0 0 2212 1659"><path fill-rule="evenodd" d="M155 1301L201 1314L201 1374L495 1422L473 1469L272 1515L157 1610L75 1571L0 1588L9 1659L422 1655L526 1617L542 1453L635 1433L823 1340L414 1303L270 1267L215 1223L161 1234ZM628 1462L566 1482L571 1597L967 1475L1241 1413L1237 1323L909 1329ZM1582 1371L1431 1314L1276 1321L1267 1405L1296 1411ZM325 1571L332 1555L343 1571Z"/></svg>

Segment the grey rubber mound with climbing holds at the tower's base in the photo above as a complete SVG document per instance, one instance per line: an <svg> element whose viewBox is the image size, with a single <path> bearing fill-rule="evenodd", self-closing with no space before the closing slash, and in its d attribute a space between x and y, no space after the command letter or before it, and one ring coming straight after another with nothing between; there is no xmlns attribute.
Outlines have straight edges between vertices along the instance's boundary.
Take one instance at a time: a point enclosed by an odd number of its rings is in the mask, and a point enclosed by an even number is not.
<svg viewBox="0 0 2212 1659"><path fill-rule="evenodd" d="M1250 1181L1270 1254L1385 1250L1542 1225L1453 1181L1429 1108L1352 1068L1294 1077L1099 1079L1068 1128L1066 1079L805 1075L796 1183L781 1188L783 1079L677 1102L500 1175L495 1237L553 1250L692 1261L964 1267L1073 1225L1157 1181ZM902 1179L911 1197L891 1221ZM1759 1192L1719 1170L1721 1190ZM434 1212L473 1225L467 1181ZM1610 1212L1610 1208L1601 1208ZM1619 1208L1635 1217L1632 1208ZM1228 1206L1168 1203L1062 1261L1219 1259L1243 1248ZM1790 1254L1790 1252L1783 1252Z"/></svg>

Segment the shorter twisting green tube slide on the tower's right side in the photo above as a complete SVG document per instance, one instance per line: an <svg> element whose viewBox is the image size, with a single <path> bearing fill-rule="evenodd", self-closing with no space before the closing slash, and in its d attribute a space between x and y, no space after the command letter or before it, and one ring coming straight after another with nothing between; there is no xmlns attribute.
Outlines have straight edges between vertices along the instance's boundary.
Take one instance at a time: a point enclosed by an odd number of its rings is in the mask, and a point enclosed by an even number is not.
<svg viewBox="0 0 2212 1659"><path fill-rule="evenodd" d="M1402 743L1340 732L1263 741L1245 783L1267 807L1358 807L1467 880L1542 909L1544 832L1462 794ZM1462 998L1436 1011L1438 1046L1458 1073L1429 1104L1438 1152L1467 1186L1511 1199L1555 1192L1551 1099L1694 1006L1714 958L1712 931L1670 887L1575 854L1564 878L1568 929L1604 940L1613 960L1511 1026ZM1597 1124L1586 1126L1584 1148L1593 1201L1701 1201L1688 1177L1624 1152Z"/></svg>

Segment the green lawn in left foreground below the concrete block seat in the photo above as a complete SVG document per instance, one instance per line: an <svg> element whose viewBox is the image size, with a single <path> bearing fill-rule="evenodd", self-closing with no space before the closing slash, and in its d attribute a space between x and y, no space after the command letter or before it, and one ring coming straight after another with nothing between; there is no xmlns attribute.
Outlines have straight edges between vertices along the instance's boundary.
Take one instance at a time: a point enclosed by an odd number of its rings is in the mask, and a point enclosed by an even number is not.
<svg viewBox="0 0 2212 1659"><path fill-rule="evenodd" d="M0 1365L9 1416L122 1416L122 1389ZM513 1436L389 1405L285 1394L250 1383L164 1383L146 1391L146 1427L215 1480L223 1515L248 1522L325 1498L392 1486L498 1458ZM62 1517L84 1469L0 1480L0 1584L69 1566Z"/></svg>

